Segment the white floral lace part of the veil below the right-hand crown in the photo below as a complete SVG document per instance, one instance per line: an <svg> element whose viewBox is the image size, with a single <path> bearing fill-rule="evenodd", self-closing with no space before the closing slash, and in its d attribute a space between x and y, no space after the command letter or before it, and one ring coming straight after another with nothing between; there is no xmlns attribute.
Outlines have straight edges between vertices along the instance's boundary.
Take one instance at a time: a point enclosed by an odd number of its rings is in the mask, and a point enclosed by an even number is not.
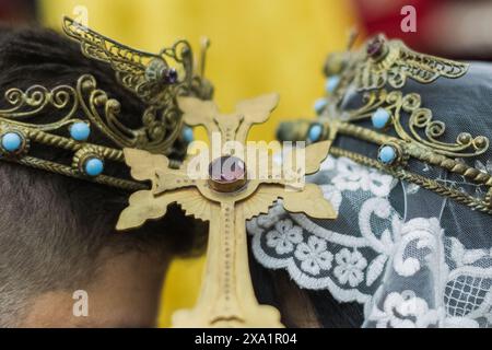
<svg viewBox="0 0 492 350"><path fill-rule="evenodd" d="M492 326L489 238L477 242L476 232L471 242L473 226L456 224L464 217L445 197L348 159L329 158L312 180L339 219L314 221L280 205L254 219L248 232L262 266L363 304L364 327Z"/></svg>

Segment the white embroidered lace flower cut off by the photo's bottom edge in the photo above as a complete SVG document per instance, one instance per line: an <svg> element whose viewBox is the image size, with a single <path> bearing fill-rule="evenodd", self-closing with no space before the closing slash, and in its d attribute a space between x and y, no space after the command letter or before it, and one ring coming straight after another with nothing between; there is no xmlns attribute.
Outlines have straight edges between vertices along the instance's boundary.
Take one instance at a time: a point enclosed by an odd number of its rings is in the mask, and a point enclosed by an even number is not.
<svg viewBox="0 0 492 350"><path fill-rule="evenodd" d="M427 302L421 298L411 295L405 298L399 293L389 294L383 305L383 311L376 310L370 317L376 320L377 328L426 328L436 326L438 313L430 310Z"/></svg>

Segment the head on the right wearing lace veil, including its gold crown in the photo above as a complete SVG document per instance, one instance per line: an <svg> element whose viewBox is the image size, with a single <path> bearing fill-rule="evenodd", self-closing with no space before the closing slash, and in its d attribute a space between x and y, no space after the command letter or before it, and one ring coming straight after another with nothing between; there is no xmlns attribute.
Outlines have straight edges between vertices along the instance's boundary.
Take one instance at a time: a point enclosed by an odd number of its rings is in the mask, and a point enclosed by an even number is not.
<svg viewBox="0 0 492 350"><path fill-rule="evenodd" d="M270 287L272 300L305 300L297 325L489 327L490 311L473 285L490 291L492 66L407 55L402 44L394 56L380 37L370 43L362 56L341 55L355 59L345 66L329 57L327 88L337 86L316 124L279 129L282 141L308 142L338 131L311 180L339 217L272 210L253 222L258 264L281 270L257 285ZM432 244L422 244L427 238ZM483 258L464 261L468 252ZM282 273L293 287L278 287ZM421 322L408 307L417 303L435 316Z"/></svg>

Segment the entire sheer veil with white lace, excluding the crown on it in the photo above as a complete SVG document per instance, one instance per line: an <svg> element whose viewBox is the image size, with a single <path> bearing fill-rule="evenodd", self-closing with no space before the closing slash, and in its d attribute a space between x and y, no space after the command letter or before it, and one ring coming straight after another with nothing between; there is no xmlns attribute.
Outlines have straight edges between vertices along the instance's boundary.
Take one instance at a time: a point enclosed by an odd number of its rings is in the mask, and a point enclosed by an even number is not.
<svg viewBox="0 0 492 350"><path fill-rule="evenodd" d="M457 80L409 81L424 107L460 132L492 137L492 66L473 62ZM353 93L344 102L358 104ZM370 127L370 125L365 125ZM376 158L377 148L339 137L337 145ZM464 160L492 172L492 152ZM483 195L460 176L411 163L411 171ZM491 327L492 217L348 159L330 156L311 178L339 211L335 221L286 213L281 205L248 223L260 265L286 270L303 289L364 306L364 327Z"/></svg>

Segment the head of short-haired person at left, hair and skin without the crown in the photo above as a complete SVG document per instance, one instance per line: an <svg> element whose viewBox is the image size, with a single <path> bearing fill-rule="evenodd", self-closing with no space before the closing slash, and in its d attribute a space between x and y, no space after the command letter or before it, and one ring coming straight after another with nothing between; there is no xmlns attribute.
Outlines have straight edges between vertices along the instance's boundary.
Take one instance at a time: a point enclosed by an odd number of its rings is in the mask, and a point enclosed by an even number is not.
<svg viewBox="0 0 492 350"><path fill-rule="evenodd" d="M1 95L35 84L73 86L87 73L122 102L124 119L141 116L139 100L116 83L110 67L84 58L69 39L47 30L0 31ZM129 195L0 162L0 326L153 326L169 259L200 249L202 230L173 207L160 222L117 233ZM78 317L84 304L89 316Z"/></svg>

